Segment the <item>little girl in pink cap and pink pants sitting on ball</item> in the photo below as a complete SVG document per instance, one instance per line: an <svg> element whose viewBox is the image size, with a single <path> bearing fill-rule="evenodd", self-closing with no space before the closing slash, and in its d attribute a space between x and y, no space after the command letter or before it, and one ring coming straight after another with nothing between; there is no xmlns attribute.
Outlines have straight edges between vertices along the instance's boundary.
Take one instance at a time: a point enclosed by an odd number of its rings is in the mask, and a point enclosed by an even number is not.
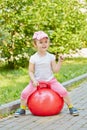
<svg viewBox="0 0 87 130"><path fill-rule="evenodd" d="M63 56L59 56L56 63L55 56L49 53L49 37L43 31L35 32L33 35L34 47L37 52L30 57L29 76L30 83L21 93L20 109L15 112L15 116L26 114L26 106L28 97L37 89L39 82L44 81L50 84L53 91L63 97L67 104L70 114L79 115L78 110L73 107L67 90L57 81L53 73L57 73L62 65Z"/></svg>

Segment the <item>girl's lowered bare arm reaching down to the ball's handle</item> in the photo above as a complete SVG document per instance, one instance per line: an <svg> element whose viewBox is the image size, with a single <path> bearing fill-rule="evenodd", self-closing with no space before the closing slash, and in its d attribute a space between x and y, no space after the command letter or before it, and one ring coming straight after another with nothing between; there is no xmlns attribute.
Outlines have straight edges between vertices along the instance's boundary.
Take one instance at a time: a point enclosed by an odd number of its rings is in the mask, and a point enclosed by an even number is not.
<svg viewBox="0 0 87 130"><path fill-rule="evenodd" d="M34 86L38 86L39 83L38 83L38 81L34 77L34 72L35 72L35 66L34 66L34 64L29 63L29 76L30 76L30 79L33 82Z"/></svg>

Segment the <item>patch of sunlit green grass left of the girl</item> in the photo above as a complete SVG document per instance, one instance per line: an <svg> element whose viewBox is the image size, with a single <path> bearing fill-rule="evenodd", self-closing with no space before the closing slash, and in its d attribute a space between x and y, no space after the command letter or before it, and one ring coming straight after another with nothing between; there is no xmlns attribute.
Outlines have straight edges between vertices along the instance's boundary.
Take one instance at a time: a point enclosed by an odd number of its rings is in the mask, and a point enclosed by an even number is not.
<svg viewBox="0 0 87 130"><path fill-rule="evenodd" d="M21 91L28 82L27 69L2 69L0 74L0 104L20 98Z"/></svg>

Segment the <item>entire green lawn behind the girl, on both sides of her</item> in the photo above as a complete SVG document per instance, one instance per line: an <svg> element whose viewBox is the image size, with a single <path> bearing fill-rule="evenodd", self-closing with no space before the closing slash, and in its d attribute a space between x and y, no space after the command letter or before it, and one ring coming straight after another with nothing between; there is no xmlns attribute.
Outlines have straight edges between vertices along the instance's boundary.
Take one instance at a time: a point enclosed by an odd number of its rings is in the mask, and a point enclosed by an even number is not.
<svg viewBox="0 0 87 130"><path fill-rule="evenodd" d="M66 59L55 77L59 82L65 82L87 73L87 59ZM9 70L0 68L0 105L20 98L21 91L29 83L28 69Z"/></svg>

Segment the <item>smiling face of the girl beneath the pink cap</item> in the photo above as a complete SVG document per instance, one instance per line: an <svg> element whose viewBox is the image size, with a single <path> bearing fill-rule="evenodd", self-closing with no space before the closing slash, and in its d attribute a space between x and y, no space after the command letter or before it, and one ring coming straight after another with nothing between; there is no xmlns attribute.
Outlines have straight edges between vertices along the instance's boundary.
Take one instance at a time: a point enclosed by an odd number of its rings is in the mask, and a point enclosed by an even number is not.
<svg viewBox="0 0 87 130"><path fill-rule="evenodd" d="M38 52L45 53L48 50L49 47L49 39L43 38L41 40L36 40L36 48Z"/></svg>

